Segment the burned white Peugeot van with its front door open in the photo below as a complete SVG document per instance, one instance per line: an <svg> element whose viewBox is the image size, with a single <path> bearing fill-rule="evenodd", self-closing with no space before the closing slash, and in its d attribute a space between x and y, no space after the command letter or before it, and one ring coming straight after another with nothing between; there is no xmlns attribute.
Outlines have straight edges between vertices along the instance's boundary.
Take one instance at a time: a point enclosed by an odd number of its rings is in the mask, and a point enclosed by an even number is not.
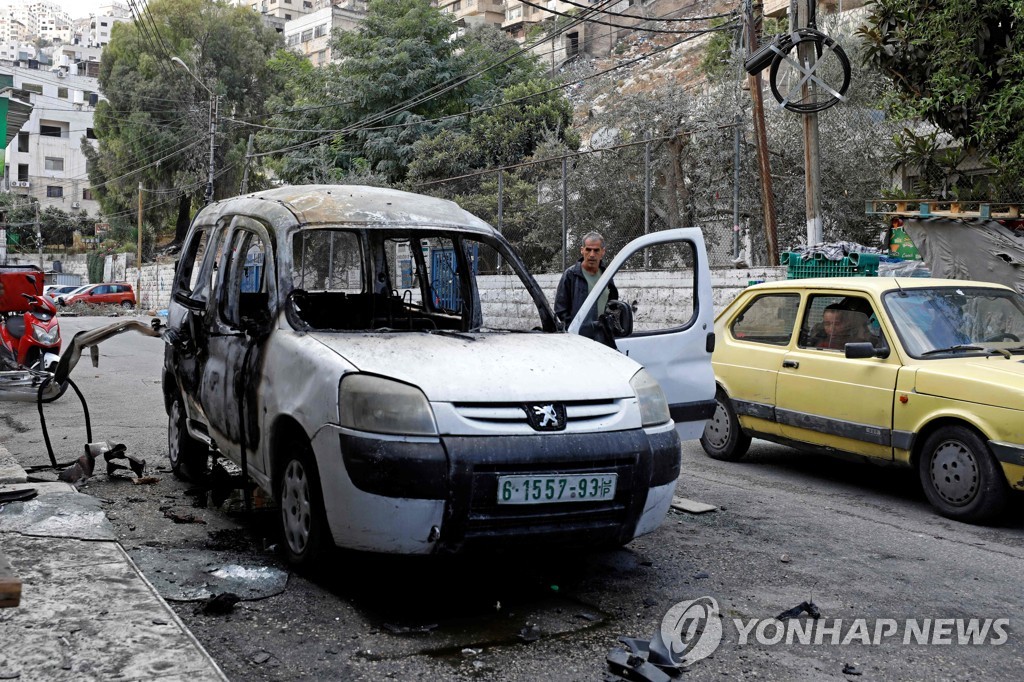
<svg viewBox="0 0 1024 682"><path fill-rule="evenodd" d="M680 436L714 411L699 230L631 244L605 281L659 247L688 261L688 311L643 330L622 303L587 315L595 291L570 330L600 343L559 330L508 242L452 202L316 185L212 204L169 308L171 465L242 466L296 565L332 543L627 543L665 517Z"/></svg>

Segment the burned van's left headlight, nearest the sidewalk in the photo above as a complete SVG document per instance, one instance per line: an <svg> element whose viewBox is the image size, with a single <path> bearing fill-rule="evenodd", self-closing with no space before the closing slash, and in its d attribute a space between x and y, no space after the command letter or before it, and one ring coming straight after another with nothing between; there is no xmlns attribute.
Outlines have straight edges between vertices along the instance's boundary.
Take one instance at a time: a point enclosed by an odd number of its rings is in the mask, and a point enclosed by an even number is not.
<svg viewBox="0 0 1024 682"><path fill-rule="evenodd" d="M342 426L397 435L436 435L434 415L423 391L368 374L341 378L338 388Z"/></svg>

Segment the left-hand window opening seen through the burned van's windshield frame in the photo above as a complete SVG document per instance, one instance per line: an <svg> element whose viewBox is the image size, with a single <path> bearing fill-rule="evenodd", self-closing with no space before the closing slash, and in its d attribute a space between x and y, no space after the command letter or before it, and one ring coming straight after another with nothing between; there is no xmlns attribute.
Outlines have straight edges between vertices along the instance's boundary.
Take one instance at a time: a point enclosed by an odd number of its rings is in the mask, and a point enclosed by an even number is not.
<svg viewBox="0 0 1024 682"><path fill-rule="evenodd" d="M292 242L292 287L305 291L359 294L362 252L354 232L305 229Z"/></svg>

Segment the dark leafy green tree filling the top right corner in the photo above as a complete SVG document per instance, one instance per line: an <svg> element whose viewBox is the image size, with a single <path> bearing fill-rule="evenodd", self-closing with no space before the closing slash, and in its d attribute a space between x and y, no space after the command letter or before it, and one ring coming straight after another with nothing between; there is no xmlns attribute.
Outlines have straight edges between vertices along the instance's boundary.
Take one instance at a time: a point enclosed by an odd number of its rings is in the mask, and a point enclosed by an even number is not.
<svg viewBox="0 0 1024 682"><path fill-rule="evenodd" d="M1022 22L1020 0L878 0L858 33L866 61L892 80L910 114L990 155L1019 183Z"/></svg>

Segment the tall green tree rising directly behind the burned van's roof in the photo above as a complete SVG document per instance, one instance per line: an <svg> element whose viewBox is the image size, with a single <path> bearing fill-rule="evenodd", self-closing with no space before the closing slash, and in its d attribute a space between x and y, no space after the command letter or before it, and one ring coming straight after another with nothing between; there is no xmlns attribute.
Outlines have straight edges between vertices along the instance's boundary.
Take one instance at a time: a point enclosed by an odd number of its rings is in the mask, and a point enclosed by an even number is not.
<svg viewBox="0 0 1024 682"><path fill-rule="evenodd" d="M444 90L463 73L455 33L450 16L421 0L371 0L358 29L334 36L338 62L315 72L275 65L299 79L274 100L281 113L260 147L287 150L278 170L292 182L353 170L400 180L413 144L437 129L431 119L463 108L464 89Z"/></svg>

